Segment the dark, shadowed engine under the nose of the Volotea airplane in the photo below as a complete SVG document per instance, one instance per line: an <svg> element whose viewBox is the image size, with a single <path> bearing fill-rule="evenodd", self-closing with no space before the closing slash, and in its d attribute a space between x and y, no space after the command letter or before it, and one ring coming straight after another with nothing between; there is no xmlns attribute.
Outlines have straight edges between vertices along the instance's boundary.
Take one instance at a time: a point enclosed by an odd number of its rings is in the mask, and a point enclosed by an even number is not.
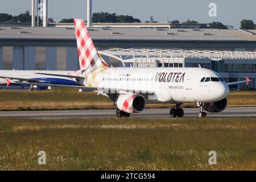
<svg viewBox="0 0 256 182"><path fill-rule="evenodd" d="M205 103L204 110L211 113L217 113L226 109L226 105L228 105L228 101L224 98L221 101Z"/></svg>

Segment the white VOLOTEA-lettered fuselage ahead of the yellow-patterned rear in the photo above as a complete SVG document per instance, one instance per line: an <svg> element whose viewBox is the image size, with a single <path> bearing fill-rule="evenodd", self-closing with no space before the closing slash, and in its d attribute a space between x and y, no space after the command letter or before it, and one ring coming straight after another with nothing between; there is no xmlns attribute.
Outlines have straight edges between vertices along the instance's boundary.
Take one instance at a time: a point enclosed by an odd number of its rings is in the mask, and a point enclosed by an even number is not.
<svg viewBox="0 0 256 182"><path fill-rule="evenodd" d="M229 88L224 81L200 82L203 77L221 76L204 68L107 68L97 75L94 86L112 88L109 92L113 93L154 92L147 103L214 102L228 96Z"/></svg>

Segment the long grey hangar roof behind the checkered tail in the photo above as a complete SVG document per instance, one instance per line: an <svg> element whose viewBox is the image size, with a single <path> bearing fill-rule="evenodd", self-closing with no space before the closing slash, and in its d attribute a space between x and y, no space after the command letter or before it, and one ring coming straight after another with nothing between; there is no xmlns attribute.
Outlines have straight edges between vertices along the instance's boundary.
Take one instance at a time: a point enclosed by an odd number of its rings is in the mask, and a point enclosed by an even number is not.
<svg viewBox="0 0 256 182"><path fill-rule="evenodd" d="M188 28L88 28L99 47L256 48L256 31ZM73 27L0 27L0 46L76 46Z"/></svg>

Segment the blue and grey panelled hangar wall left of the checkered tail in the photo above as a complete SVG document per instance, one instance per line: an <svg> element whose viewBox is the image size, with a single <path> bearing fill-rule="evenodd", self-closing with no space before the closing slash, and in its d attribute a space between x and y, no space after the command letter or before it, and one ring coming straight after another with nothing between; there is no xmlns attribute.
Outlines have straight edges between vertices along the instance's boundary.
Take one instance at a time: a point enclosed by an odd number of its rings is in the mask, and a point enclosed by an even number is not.
<svg viewBox="0 0 256 182"><path fill-rule="evenodd" d="M76 70L76 47L0 46L0 69Z"/></svg>

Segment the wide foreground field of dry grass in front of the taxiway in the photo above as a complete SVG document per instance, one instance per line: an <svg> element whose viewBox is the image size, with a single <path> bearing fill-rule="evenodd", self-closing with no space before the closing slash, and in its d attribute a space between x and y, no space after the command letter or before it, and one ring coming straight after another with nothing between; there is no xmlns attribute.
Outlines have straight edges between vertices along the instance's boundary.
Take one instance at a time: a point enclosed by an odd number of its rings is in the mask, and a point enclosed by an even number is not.
<svg viewBox="0 0 256 182"><path fill-rule="evenodd" d="M46 152L39 166L38 151ZM209 165L209 151L217 165ZM1 118L1 170L255 170L255 118Z"/></svg>

